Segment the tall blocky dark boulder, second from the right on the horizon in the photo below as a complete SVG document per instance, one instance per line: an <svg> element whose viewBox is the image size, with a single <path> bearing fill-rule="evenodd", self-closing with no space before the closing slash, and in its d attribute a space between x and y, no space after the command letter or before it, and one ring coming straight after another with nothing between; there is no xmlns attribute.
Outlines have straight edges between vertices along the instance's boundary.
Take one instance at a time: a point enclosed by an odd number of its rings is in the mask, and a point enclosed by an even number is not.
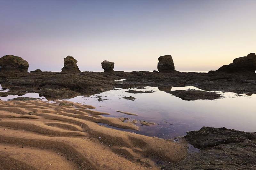
<svg viewBox="0 0 256 170"><path fill-rule="evenodd" d="M158 58L157 69L159 72L172 72L175 70L172 55L164 55Z"/></svg>

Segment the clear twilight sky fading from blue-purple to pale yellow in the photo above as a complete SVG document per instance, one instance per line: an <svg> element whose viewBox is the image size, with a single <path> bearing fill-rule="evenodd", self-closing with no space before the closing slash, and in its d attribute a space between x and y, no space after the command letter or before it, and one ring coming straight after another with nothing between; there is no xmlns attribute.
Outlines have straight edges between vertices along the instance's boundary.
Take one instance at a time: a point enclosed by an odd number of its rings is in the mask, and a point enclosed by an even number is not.
<svg viewBox="0 0 256 170"><path fill-rule="evenodd" d="M29 70L61 70L68 55L80 70L157 70L172 55L176 70L216 70L256 52L255 0L0 0L0 56Z"/></svg>

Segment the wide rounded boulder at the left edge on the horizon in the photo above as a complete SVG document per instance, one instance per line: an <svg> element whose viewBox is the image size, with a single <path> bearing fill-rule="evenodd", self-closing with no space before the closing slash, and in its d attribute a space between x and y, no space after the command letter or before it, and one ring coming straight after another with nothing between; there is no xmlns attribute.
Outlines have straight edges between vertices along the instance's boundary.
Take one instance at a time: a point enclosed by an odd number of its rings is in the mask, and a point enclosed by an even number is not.
<svg viewBox="0 0 256 170"><path fill-rule="evenodd" d="M1 72L28 72L29 64L21 57L14 55L4 55L0 58Z"/></svg>

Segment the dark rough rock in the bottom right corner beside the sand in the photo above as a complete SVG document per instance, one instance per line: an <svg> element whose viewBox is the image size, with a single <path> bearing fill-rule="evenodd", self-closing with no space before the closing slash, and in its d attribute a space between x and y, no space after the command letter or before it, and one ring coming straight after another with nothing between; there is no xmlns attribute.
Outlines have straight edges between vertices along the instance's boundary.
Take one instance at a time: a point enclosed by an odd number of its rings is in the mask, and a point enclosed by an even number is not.
<svg viewBox="0 0 256 170"><path fill-rule="evenodd" d="M203 127L185 136L200 153L191 153L171 169L256 169L256 133L234 129Z"/></svg>

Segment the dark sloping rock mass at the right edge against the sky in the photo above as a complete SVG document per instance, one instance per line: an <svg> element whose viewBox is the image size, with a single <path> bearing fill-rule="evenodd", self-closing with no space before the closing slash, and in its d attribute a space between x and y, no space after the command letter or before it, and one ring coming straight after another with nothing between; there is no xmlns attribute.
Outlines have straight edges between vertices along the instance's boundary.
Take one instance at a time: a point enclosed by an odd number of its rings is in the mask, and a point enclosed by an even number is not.
<svg viewBox="0 0 256 170"><path fill-rule="evenodd" d="M254 72L256 70L256 55L255 53L248 54L245 57L239 57L233 60L229 65L223 65L216 71L223 71L227 73L234 72Z"/></svg>

